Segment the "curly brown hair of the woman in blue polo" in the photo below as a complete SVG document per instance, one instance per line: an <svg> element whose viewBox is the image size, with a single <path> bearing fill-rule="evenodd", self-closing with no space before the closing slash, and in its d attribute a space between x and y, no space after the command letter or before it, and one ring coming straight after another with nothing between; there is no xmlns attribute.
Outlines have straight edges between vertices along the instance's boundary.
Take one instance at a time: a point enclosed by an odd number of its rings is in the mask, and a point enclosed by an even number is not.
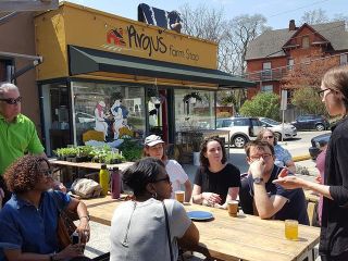
<svg viewBox="0 0 348 261"><path fill-rule="evenodd" d="M12 163L3 175L8 189L14 194L34 189L42 175L39 173L41 162L46 162L50 167L46 158L33 154L24 156Z"/></svg>

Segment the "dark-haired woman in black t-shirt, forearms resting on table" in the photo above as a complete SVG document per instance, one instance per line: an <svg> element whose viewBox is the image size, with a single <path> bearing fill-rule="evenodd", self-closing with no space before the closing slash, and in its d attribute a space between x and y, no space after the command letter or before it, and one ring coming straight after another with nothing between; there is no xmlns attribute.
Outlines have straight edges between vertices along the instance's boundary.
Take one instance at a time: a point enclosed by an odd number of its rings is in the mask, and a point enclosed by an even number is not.
<svg viewBox="0 0 348 261"><path fill-rule="evenodd" d="M240 187L238 167L226 163L225 146L221 138L208 138L201 145L201 166L195 176L192 202L226 209L236 199Z"/></svg>

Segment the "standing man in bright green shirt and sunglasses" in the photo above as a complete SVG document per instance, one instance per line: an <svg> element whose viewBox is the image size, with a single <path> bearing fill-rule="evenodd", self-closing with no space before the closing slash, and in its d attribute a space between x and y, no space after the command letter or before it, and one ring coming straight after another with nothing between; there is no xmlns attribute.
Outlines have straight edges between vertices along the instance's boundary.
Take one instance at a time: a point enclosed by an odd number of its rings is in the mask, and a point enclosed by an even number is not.
<svg viewBox="0 0 348 261"><path fill-rule="evenodd" d="M10 197L2 178L5 169L25 153L46 156L35 124L21 114L21 101L15 85L5 83L0 86L0 199L2 188L5 195L3 204Z"/></svg>

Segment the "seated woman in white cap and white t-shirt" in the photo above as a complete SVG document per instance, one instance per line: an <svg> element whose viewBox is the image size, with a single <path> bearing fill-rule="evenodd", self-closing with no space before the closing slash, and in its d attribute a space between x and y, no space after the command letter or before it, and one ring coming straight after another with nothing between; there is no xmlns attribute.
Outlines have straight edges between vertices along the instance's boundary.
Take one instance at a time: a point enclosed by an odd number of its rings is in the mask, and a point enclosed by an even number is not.
<svg viewBox="0 0 348 261"><path fill-rule="evenodd" d="M183 166L175 160L167 160L164 153L165 142L160 136L150 135L145 139L144 156L161 160L165 171L171 177L173 192L185 187L185 201L189 202L192 194L192 186ZM173 195L172 195L173 198Z"/></svg>

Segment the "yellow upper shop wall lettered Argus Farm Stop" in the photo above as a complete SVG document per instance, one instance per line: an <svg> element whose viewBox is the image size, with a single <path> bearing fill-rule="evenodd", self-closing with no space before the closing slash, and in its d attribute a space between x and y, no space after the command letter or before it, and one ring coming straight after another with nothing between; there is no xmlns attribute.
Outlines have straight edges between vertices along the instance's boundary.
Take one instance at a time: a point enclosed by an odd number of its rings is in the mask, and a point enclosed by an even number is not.
<svg viewBox="0 0 348 261"><path fill-rule="evenodd" d="M69 76L67 45L191 65L217 66L217 45L172 30L63 2L36 17L38 78Z"/></svg>

